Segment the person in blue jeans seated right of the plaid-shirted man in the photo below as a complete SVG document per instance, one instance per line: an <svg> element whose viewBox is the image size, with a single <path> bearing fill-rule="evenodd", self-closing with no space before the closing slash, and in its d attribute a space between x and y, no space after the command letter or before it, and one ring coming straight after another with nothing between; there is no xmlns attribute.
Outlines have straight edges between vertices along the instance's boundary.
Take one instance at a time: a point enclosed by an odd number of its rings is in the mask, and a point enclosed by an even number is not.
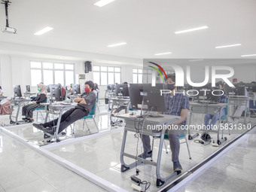
<svg viewBox="0 0 256 192"><path fill-rule="evenodd" d="M218 82L218 87L219 87L220 90L224 91L223 83L221 81ZM222 102L222 103L227 102L227 94L226 93L224 93L222 96L220 96L219 102ZM205 115L204 123L205 123L205 126L206 126L207 129L210 128L212 130L212 127L215 125L215 123L219 119L219 116L220 116L219 111L220 110L218 110L218 112L214 115L212 115L212 114L206 114ZM226 108L222 108L221 117L224 116L225 114L226 114ZM212 120L211 120L211 123L209 124L210 119L212 119Z"/></svg>

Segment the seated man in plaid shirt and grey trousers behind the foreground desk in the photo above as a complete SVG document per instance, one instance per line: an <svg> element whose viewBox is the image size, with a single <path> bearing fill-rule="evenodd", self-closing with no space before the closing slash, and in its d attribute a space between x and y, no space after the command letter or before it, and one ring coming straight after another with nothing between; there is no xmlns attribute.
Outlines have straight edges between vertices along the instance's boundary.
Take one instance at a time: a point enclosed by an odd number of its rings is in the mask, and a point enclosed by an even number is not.
<svg viewBox="0 0 256 192"><path fill-rule="evenodd" d="M178 155L180 150L180 142L178 137L184 134L184 129L181 129L181 125L186 124L187 111L189 109L189 99L184 96L183 93L178 92L178 88L175 87L175 73L167 75L166 79L167 89L172 90L172 93L165 95L166 111L163 114L170 114L180 116L181 119L176 123L171 124L168 132L169 145L172 151L172 163L173 170L175 172L181 171L181 163L179 163ZM175 94L174 94L175 92ZM175 129L172 127L175 126ZM178 129L176 129L178 126ZM142 136L142 143L144 153L140 154L139 157L145 159L152 156L150 138L149 136Z"/></svg>

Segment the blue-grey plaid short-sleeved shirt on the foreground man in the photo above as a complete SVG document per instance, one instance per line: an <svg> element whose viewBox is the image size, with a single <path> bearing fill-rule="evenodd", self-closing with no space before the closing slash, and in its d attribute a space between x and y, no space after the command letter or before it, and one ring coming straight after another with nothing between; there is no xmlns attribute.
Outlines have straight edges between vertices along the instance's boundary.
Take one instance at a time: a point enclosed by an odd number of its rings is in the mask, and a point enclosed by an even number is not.
<svg viewBox="0 0 256 192"><path fill-rule="evenodd" d="M166 111L163 114L171 114L175 116L181 116L181 109L189 109L189 99L184 96L183 93L175 93L175 96L170 94L165 95ZM186 124L186 120L180 123Z"/></svg>

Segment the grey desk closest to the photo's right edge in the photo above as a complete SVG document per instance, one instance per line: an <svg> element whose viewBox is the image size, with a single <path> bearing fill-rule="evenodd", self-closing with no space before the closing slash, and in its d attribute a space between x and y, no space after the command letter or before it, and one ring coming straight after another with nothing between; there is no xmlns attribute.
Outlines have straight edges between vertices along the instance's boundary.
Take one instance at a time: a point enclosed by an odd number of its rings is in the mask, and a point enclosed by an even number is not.
<svg viewBox="0 0 256 192"><path fill-rule="evenodd" d="M228 105L235 105L235 106L242 106L242 105L245 105L245 116L244 116L244 122L243 123L246 123L246 118L247 118L247 111L248 111L248 108L247 108L247 105L248 105L248 101L249 101L249 97L236 97L236 96L229 96L228 97ZM239 118L241 116L233 116L233 115L230 115L230 110L227 110L227 116L228 117L232 117L232 118Z"/></svg>

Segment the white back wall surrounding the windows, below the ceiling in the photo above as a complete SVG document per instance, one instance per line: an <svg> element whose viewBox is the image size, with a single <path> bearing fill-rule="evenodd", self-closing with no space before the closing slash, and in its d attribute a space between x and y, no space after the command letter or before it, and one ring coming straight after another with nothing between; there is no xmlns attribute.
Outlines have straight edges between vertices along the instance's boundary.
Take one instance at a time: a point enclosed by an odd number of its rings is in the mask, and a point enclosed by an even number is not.
<svg viewBox="0 0 256 192"><path fill-rule="evenodd" d="M24 93L26 91L26 85L31 84L30 75L30 61L51 61L51 62L72 62L75 63L75 75L84 74L84 62L82 61L63 61L56 59L45 59L45 58L29 58L26 56L10 56L0 55L0 67L1 67L1 82L2 89L4 90L5 96L13 96L13 85L20 84L21 90ZM105 63L93 63L95 66L117 66ZM133 68L135 66L120 66L121 67L121 82L127 81L133 82ZM93 72L85 74L85 79L79 80L79 84L84 84L85 81L93 81ZM39 83L39 82L38 82ZM99 98L105 97L106 86L100 86ZM32 92L36 92L36 87L31 87Z"/></svg>

